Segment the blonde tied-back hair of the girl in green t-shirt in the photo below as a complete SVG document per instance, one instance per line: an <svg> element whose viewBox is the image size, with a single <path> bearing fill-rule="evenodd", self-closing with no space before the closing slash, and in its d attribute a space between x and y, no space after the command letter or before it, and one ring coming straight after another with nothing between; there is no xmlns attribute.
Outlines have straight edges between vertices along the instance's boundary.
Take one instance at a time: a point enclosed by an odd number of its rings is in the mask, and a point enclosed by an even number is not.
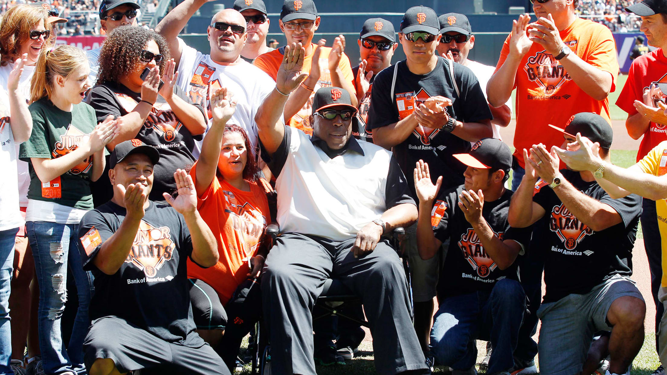
<svg viewBox="0 0 667 375"><path fill-rule="evenodd" d="M87 62L83 50L73 45L42 48L30 81L30 103L43 97L51 97L56 75L67 79L73 71Z"/></svg>

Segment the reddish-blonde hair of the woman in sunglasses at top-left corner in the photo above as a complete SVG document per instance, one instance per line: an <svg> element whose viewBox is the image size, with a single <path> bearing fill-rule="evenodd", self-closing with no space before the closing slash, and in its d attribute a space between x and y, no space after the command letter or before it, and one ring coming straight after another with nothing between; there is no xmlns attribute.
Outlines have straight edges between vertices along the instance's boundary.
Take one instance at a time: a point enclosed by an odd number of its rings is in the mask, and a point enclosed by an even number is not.
<svg viewBox="0 0 667 375"><path fill-rule="evenodd" d="M0 66L19 58L21 44L29 41L30 31L43 21L47 26L49 12L43 7L17 4L9 7L0 22Z"/></svg>

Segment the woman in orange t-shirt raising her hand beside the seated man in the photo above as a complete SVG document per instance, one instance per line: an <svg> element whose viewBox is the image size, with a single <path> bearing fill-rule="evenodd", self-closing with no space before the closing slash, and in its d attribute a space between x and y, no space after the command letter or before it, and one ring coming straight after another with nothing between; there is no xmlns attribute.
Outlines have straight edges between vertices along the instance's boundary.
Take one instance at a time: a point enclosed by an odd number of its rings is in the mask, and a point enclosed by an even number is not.
<svg viewBox="0 0 667 375"><path fill-rule="evenodd" d="M210 268L187 264L197 332L230 370L261 312L257 278L267 253L261 246L270 218L266 194L273 192L255 177L259 167L247 133L227 123L236 110L231 97L225 88L211 94L213 125L190 171L197 210L215 234L219 260Z"/></svg>

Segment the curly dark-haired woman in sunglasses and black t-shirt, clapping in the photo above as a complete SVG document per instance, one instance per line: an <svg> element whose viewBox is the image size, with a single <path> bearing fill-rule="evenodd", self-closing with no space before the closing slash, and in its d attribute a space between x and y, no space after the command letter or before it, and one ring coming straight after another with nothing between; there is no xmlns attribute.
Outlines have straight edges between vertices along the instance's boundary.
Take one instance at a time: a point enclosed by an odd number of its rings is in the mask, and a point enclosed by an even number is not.
<svg viewBox="0 0 667 375"><path fill-rule="evenodd" d="M119 123L121 131L109 149L136 138L159 151L149 197L155 201L164 200L163 193L176 191L173 173L192 166L195 140L201 139L206 129L203 107L193 105L176 87L178 73L174 73L175 63L169 57L165 39L155 31L117 27L102 45L97 85L88 97L97 119L113 115ZM113 196L106 174L95 185L96 205Z"/></svg>

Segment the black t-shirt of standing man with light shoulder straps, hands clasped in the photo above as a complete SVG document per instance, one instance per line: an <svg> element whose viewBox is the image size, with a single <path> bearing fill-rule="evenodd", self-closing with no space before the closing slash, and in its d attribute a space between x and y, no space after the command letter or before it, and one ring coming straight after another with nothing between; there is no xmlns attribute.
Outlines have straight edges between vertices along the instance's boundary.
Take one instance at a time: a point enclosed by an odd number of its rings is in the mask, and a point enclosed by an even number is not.
<svg viewBox="0 0 667 375"><path fill-rule="evenodd" d="M412 73L406 61L400 61L394 97L391 96L393 77L394 65L378 73L373 82L368 129L396 123L408 117L414 107L428 97L437 95L452 99L453 103L447 107L447 113L458 121L479 122L493 118L480 83L468 67L454 63L454 77L461 92L460 97L454 89L449 64L443 57L439 57L435 69L425 75ZM413 198L416 198L413 177L416 161L423 159L428 163L434 183L442 175L442 188L447 190L464 183L463 173L466 170L466 165L452 155L468 151L469 141L429 127L417 127L405 141L394 146L394 155L403 173L408 176Z"/></svg>

